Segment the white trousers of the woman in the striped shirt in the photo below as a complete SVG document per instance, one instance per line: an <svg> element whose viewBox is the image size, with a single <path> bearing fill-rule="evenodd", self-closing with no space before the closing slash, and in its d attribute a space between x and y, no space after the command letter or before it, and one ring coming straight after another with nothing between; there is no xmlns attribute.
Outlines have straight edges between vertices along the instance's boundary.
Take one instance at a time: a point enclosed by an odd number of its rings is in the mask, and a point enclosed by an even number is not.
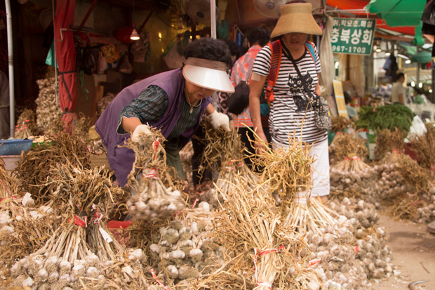
<svg viewBox="0 0 435 290"><path fill-rule="evenodd" d="M288 149L288 145L278 143L272 139L272 148ZM316 159L312 166L313 188L311 195L313 197L323 197L329 195L329 151L328 139L316 143L310 152L310 155Z"/></svg>

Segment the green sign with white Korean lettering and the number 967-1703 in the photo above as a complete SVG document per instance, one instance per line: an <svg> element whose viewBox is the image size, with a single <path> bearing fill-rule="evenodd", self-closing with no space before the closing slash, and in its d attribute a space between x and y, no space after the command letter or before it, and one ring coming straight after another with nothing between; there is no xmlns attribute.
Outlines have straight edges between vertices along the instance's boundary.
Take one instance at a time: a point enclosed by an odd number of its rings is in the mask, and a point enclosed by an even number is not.
<svg viewBox="0 0 435 290"><path fill-rule="evenodd" d="M330 42L334 53L369 55L375 36L376 20L334 18Z"/></svg>

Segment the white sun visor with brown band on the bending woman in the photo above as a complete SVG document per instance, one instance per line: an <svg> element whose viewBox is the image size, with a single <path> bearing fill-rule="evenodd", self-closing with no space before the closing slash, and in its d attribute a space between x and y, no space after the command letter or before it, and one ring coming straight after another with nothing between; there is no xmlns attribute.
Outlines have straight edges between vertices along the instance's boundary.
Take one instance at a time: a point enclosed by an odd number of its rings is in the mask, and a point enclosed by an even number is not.
<svg viewBox="0 0 435 290"><path fill-rule="evenodd" d="M196 86L215 91L234 93L234 87L227 74L227 64L203 58L187 58L182 74Z"/></svg>

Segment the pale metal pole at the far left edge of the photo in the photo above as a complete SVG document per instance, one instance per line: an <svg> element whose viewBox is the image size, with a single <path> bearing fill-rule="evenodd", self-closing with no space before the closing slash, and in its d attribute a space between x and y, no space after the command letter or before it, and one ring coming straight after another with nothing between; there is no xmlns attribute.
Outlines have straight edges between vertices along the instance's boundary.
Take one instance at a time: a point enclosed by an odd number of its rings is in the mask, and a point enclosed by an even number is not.
<svg viewBox="0 0 435 290"><path fill-rule="evenodd" d="M6 5L6 26L8 32L8 62L9 62L9 121L10 121L10 136L14 136L15 128L15 91L13 80L13 43L12 43L12 16L11 16L11 3L9 0L4 1Z"/></svg>

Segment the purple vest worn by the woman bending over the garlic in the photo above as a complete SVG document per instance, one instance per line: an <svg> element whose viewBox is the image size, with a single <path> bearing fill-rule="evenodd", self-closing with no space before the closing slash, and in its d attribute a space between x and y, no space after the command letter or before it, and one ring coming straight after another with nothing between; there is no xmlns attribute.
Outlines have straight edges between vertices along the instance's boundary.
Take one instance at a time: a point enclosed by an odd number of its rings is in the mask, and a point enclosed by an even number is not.
<svg viewBox="0 0 435 290"><path fill-rule="evenodd" d="M135 161L135 152L126 147L119 147L130 138L130 134L121 135L116 132L118 117L123 107L130 105L132 100L137 98L148 86L152 85L159 86L166 92L169 100L168 109L159 121L146 121L145 124L148 123L149 126L161 129L162 135L168 138L170 131L172 131L180 117L180 103L185 90L185 78L181 69L162 72L124 88L121 93L116 95L116 98L112 100L95 123L95 131L101 136L102 143L107 147L107 159L115 173L116 180L121 186L127 183L128 174ZM210 97L203 99L199 116L202 116L210 101ZM195 126L182 133L182 136L180 136L181 146L189 142L190 137L199 126L199 121L201 120L198 119Z"/></svg>

